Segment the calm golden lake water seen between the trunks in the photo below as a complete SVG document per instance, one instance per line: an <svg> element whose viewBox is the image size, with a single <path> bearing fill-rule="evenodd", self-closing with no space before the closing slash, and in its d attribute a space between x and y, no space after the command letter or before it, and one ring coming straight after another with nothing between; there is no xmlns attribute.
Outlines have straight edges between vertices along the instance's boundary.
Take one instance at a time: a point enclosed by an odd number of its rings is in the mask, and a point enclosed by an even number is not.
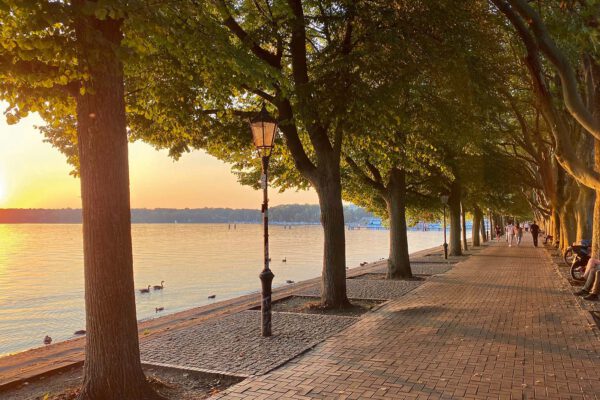
<svg viewBox="0 0 600 400"><path fill-rule="evenodd" d="M261 225L136 224L133 254L138 319L257 292L262 269ZM442 242L442 232L409 232L411 252ZM270 227L275 287L321 273L320 226ZM347 265L388 253L388 231L346 231ZM287 262L282 262L283 258ZM156 307L164 312L155 313ZM81 225L0 224L0 355L73 337L85 329Z"/></svg>

